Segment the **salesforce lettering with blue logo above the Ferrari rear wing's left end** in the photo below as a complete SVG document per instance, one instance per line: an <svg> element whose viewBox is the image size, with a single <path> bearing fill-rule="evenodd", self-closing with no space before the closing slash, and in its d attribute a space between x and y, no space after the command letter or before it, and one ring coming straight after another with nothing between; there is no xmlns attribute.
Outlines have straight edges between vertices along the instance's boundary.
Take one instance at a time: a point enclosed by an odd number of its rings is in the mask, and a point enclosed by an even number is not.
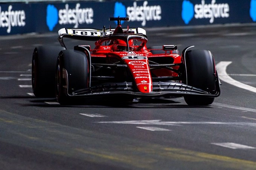
<svg viewBox="0 0 256 170"><path fill-rule="evenodd" d="M93 9L80 8L77 3L73 9L69 8L69 4L65 5L64 9L57 9L54 5L47 6L46 23L50 31L53 30L56 24L74 24L78 28L79 24L92 24L93 23Z"/></svg>

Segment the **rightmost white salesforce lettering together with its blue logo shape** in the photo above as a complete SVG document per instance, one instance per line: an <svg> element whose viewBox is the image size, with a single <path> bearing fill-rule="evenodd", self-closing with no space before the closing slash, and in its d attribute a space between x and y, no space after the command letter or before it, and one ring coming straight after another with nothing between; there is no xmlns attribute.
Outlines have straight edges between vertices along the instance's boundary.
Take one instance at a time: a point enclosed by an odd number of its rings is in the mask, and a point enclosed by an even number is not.
<svg viewBox="0 0 256 170"><path fill-rule="evenodd" d="M229 18L229 4L216 4L216 0L206 4L204 0L201 0L201 4L194 5L189 0L183 0L181 17L185 24L189 24L193 18L209 18L209 22L212 24L215 18Z"/></svg>

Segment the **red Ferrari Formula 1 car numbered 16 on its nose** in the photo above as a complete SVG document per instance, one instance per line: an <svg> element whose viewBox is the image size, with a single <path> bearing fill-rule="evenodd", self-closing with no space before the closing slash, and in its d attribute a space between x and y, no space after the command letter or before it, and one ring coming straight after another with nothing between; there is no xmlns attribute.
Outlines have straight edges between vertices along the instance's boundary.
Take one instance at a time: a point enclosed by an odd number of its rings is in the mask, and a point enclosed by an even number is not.
<svg viewBox="0 0 256 170"><path fill-rule="evenodd" d="M40 46L32 56L32 88L36 97L56 96L60 104L83 98L184 97L188 105L204 106L220 95L213 55L208 50L176 45L146 46L143 28L112 30L62 28L61 46ZM95 41L68 49L64 38Z"/></svg>

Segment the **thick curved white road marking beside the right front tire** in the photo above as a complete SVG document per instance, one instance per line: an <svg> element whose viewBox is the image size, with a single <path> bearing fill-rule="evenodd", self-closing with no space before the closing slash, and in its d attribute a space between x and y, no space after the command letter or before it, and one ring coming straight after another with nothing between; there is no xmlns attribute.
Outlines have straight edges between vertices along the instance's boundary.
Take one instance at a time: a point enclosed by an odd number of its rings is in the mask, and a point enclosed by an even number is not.
<svg viewBox="0 0 256 170"><path fill-rule="evenodd" d="M216 65L216 69L218 71L218 76L219 79L221 79L221 81L224 81L226 83L229 83L231 85L237 86L239 88L245 89L245 90L249 90L251 92L256 92L256 88L249 86L247 84L243 84L239 81L236 81L234 79L232 79L226 72L227 70L227 66L229 66L229 64L231 64L232 61L221 61Z"/></svg>

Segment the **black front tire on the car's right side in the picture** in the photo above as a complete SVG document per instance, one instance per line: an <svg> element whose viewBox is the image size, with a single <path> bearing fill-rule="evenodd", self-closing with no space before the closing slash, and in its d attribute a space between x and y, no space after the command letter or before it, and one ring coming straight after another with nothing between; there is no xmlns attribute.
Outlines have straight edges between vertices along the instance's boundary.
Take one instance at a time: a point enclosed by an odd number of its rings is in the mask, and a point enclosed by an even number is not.
<svg viewBox="0 0 256 170"><path fill-rule="evenodd" d="M191 50L185 55L186 84L213 94L216 91L217 75L214 58L210 51ZM184 100L191 106L207 106L213 103L214 97L194 95L184 96Z"/></svg>

